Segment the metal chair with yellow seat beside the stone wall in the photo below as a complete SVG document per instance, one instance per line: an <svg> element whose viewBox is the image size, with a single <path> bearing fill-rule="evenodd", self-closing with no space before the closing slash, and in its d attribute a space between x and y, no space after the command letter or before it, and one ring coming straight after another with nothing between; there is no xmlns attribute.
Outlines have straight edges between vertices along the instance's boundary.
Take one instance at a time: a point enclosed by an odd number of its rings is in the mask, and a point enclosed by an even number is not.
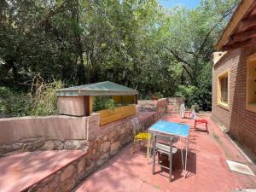
<svg viewBox="0 0 256 192"><path fill-rule="evenodd" d="M147 141L147 158L149 155L149 142L150 142L150 134L141 132L142 127L139 124L139 120L137 117L131 119L131 125L132 125L132 131L133 131L133 152L135 152L135 143L136 142L141 142L141 141Z"/></svg>

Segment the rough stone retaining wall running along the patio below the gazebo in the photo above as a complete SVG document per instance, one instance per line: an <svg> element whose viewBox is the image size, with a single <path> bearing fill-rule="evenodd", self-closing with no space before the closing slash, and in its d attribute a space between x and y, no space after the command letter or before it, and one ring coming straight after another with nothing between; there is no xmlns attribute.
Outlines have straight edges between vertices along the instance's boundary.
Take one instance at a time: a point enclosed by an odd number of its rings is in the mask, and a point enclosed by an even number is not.
<svg viewBox="0 0 256 192"><path fill-rule="evenodd" d="M163 113L153 113L140 123L147 128L154 124L161 115ZM99 113L92 113L86 117L88 145L84 156L45 178L27 192L71 191L84 177L88 177L98 166L102 166L111 156L118 153L120 148L131 141L133 137L131 119L134 117L127 117L102 126L100 126Z"/></svg>

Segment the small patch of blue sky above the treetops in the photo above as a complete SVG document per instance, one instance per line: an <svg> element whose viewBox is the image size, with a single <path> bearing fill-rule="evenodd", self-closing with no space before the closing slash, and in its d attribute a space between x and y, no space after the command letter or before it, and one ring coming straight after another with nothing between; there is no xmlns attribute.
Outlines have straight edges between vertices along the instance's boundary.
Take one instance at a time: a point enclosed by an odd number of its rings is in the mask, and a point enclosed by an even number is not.
<svg viewBox="0 0 256 192"><path fill-rule="evenodd" d="M189 9L194 9L199 5L200 0L159 0L160 5L171 9L177 4L183 4Z"/></svg>

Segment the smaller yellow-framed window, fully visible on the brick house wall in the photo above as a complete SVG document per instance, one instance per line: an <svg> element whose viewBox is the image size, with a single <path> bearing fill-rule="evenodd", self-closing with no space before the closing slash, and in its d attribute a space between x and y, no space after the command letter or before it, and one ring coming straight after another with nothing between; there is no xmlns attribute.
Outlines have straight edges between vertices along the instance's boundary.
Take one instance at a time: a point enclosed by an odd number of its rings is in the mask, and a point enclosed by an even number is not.
<svg viewBox="0 0 256 192"><path fill-rule="evenodd" d="M230 72L221 73L218 76L218 105L223 108L229 108L229 74Z"/></svg>

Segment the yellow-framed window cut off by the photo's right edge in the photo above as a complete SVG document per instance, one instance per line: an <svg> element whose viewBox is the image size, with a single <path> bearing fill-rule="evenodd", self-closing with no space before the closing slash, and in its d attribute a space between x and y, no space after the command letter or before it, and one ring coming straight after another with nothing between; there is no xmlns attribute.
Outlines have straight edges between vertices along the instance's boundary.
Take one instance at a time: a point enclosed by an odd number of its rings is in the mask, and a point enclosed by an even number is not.
<svg viewBox="0 0 256 192"><path fill-rule="evenodd" d="M256 113L256 54L247 59L247 110Z"/></svg>

